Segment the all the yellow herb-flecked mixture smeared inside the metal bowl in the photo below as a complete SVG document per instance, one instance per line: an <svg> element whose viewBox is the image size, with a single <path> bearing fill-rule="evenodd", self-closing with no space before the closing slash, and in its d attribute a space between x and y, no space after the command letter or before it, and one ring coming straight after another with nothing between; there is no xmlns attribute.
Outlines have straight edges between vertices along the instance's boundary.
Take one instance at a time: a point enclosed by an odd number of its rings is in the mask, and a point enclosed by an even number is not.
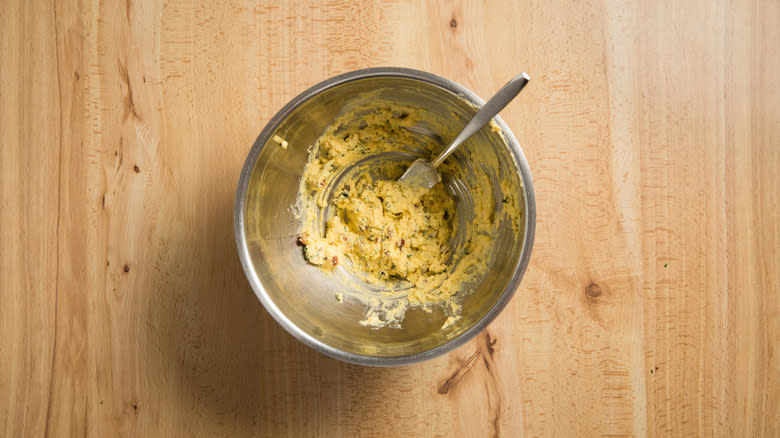
<svg viewBox="0 0 780 438"><path fill-rule="evenodd" d="M362 298L354 288L345 291L368 306L364 325L398 327L410 306L440 306L452 323L460 295L491 262L497 221L486 177L471 188L468 230L459 230L463 221L444 183L428 190L398 182L411 162L399 159L399 151L430 156L441 149L414 134L411 128L420 121L411 107L351 108L317 139L304 168L298 243L309 263L329 272L343 269L370 285L373 292ZM440 171L454 170L448 166Z"/></svg>

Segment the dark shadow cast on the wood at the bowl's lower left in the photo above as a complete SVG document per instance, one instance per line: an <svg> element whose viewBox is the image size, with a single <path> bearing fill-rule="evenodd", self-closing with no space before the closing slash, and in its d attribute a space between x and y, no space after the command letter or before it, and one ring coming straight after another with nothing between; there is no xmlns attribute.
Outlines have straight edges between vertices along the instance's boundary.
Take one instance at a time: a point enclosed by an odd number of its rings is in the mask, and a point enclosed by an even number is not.
<svg viewBox="0 0 780 438"><path fill-rule="evenodd" d="M188 425L199 428L196 434L203 427L259 436L338 432L336 419L361 405L363 388L395 381L409 367L347 364L287 333L262 307L241 267L234 186L199 189L197 214L174 213L194 223L165 237L169 250L157 255L160 293L147 309L157 327L147 357L160 362L163 399L175 400L177 412L196 414L200 420Z"/></svg>

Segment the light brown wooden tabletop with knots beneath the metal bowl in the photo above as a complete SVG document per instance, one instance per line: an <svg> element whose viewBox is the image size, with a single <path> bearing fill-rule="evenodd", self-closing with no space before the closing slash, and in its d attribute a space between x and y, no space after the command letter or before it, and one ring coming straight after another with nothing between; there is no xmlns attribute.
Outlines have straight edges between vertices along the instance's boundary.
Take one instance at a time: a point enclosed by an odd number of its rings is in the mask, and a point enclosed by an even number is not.
<svg viewBox="0 0 780 438"><path fill-rule="evenodd" d="M773 0L3 0L0 436L780 436L779 46ZM282 105L384 65L530 73L538 223L483 334L376 369L276 324L232 215Z"/></svg>

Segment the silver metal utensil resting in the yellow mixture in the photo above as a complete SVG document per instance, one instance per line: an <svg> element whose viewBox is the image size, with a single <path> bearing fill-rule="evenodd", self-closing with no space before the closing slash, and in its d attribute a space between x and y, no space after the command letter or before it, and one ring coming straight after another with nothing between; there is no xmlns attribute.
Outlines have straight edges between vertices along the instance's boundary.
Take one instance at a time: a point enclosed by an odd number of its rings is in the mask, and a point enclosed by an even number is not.
<svg viewBox="0 0 780 438"><path fill-rule="evenodd" d="M406 169L399 181L407 184L423 186L427 189L435 186L436 183L441 181L441 175L436 170L439 165L452 154L455 149L461 145L466 139L476 134L483 126L485 126L490 120L498 114L499 111L512 101L517 96L517 93L525 87L525 84L530 81L531 78L527 73L523 72L512 78L503 88L498 90L495 96L493 96L487 103L480 108L474 118L469 121L463 131L455 137L455 140L447 146L433 162L418 158L414 160L411 166Z"/></svg>

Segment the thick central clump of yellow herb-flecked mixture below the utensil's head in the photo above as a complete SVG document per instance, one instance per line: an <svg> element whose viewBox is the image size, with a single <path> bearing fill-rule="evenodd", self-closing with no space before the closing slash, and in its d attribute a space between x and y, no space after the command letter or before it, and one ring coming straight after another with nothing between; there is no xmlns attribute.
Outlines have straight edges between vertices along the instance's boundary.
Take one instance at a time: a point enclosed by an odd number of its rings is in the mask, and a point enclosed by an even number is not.
<svg viewBox="0 0 780 438"><path fill-rule="evenodd" d="M367 175L342 184L324 238L305 234L306 259L326 268L350 260L370 283L406 280L423 287L447 269L455 203L431 190Z"/></svg>

